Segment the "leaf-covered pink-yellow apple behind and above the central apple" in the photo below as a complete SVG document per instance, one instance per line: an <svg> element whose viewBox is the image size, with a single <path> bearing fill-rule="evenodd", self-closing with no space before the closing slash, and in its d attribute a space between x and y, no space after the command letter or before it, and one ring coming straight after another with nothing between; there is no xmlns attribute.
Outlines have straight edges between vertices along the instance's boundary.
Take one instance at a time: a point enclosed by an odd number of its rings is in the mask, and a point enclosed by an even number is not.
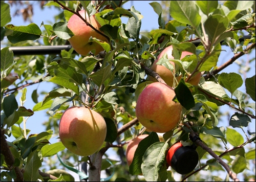
<svg viewBox="0 0 256 182"><path fill-rule="evenodd" d="M165 48L159 55L158 55L158 59L156 59L154 61L154 63L151 66L151 70L153 70L154 72L158 73L159 76L165 81L165 83L171 87L174 87L174 75L175 75L175 69L173 71L173 73L168 70L165 66L163 65L158 65L156 64L158 62L158 60L163 57L164 53L167 54L168 59L174 59L172 53L173 53L173 46L170 45L169 47ZM185 56L187 55L191 55L192 53L189 52L182 52L181 53L181 57L180 59L183 59ZM174 67L175 67L175 63L173 61L169 61ZM176 77L177 81L179 82L180 79L182 78L182 75L180 75L179 77ZM192 84L192 85L198 85L199 81L201 78L201 73L197 73L195 76L193 76L192 78L190 78L190 80L188 81L188 83ZM148 76L148 79L153 81L153 82L157 82L157 80L155 78L153 78L152 76ZM177 84L176 84L177 85Z"/></svg>

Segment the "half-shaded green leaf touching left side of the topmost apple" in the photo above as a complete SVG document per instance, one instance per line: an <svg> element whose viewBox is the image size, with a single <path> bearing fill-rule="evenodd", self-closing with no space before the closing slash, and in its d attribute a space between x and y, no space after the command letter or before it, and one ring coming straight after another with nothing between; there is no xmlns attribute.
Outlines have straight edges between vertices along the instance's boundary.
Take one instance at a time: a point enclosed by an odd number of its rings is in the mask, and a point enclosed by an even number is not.
<svg viewBox="0 0 256 182"><path fill-rule="evenodd" d="M73 32L68 28L67 22L56 22L52 27L54 33L61 39L67 40L71 38L74 34Z"/></svg>

